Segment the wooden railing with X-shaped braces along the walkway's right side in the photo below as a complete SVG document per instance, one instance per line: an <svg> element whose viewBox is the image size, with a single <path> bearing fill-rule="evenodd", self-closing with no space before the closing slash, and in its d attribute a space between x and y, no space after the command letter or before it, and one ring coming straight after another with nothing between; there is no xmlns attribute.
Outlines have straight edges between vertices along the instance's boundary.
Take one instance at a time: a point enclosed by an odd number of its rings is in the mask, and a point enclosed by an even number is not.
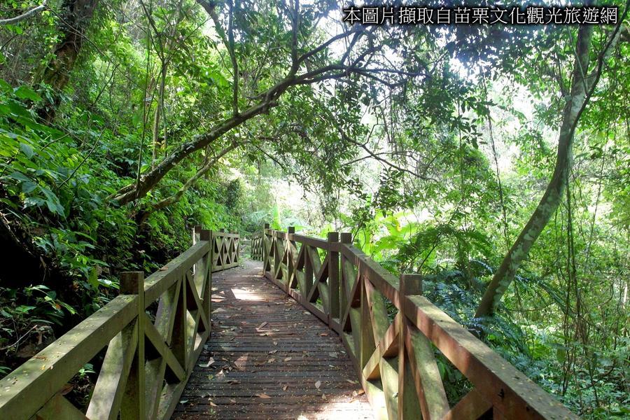
<svg viewBox="0 0 630 420"><path fill-rule="evenodd" d="M420 276L397 279L355 248L350 234L340 239L265 225L264 274L340 335L379 418L577 418L423 297ZM472 384L452 405L436 351Z"/></svg>

